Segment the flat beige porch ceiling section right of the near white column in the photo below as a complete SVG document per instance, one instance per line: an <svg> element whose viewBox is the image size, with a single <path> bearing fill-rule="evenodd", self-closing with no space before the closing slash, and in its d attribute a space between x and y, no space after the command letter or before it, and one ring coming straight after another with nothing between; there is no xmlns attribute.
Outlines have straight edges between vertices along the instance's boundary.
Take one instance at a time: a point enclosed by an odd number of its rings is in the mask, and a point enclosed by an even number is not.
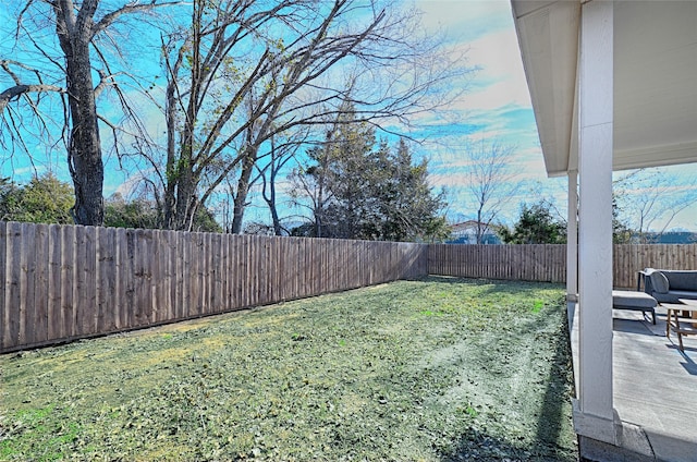
<svg viewBox="0 0 697 462"><path fill-rule="evenodd" d="M615 170L697 161L697 2L615 3Z"/></svg>

